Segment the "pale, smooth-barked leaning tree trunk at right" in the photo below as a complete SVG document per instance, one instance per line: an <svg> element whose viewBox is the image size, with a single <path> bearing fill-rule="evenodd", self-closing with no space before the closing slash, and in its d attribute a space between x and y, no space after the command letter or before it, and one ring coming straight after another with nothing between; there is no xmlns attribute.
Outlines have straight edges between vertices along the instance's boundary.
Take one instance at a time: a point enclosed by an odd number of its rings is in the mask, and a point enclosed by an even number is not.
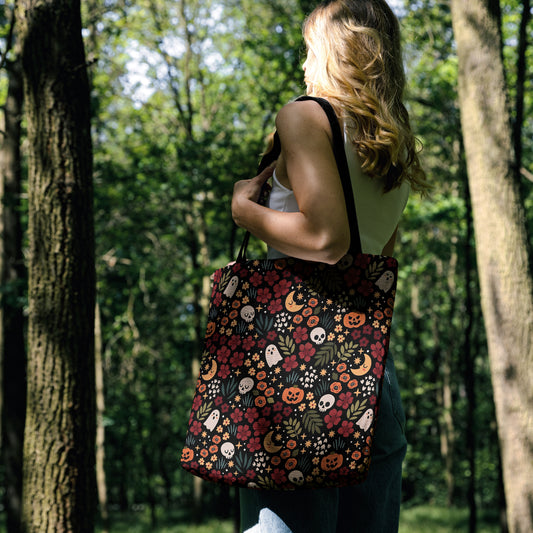
<svg viewBox="0 0 533 533"><path fill-rule="evenodd" d="M533 287L514 179L499 6L452 0L461 121L509 530L533 531Z"/></svg>

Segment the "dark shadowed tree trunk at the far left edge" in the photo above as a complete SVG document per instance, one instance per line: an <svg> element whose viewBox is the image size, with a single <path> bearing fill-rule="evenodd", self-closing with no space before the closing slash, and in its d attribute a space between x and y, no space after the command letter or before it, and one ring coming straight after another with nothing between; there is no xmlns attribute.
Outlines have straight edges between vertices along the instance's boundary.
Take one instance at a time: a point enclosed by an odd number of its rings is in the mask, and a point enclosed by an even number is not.
<svg viewBox="0 0 533 533"><path fill-rule="evenodd" d="M8 533L21 531L22 450L26 415L26 346L23 287L26 272L20 223L20 121L22 74L20 62L7 64L8 93L0 148L0 360L2 361L2 463L4 506Z"/></svg>

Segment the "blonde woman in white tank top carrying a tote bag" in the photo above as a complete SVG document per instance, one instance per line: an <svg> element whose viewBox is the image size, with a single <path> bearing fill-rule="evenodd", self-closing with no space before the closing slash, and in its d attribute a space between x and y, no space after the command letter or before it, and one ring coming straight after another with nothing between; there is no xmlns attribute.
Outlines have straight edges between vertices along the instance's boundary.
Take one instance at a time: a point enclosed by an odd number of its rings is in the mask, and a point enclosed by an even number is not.
<svg viewBox="0 0 533 533"><path fill-rule="evenodd" d="M392 255L410 189L428 188L402 103L399 25L384 0L323 2L303 28L307 94L326 98L344 128L363 252ZM332 132L312 100L284 106L276 119L275 170L235 184L235 222L265 241L270 257L335 264L350 231ZM268 206L256 203L273 176ZM398 529L405 418L392 358L368 479L341 489L294 492L241 489L243 530L392 533Z"/></svg>

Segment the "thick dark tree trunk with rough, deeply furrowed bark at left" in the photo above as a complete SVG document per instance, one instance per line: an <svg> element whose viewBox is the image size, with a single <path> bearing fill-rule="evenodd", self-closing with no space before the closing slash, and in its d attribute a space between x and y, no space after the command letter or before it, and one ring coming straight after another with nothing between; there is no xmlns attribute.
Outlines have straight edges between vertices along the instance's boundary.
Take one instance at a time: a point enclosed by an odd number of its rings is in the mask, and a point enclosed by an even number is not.
<svg viewBox="0 0 533 533"><path fill-rule="evenodd" d="M92 532L94 236L79 0L20 0L29 146L23 531Z"/></svg>

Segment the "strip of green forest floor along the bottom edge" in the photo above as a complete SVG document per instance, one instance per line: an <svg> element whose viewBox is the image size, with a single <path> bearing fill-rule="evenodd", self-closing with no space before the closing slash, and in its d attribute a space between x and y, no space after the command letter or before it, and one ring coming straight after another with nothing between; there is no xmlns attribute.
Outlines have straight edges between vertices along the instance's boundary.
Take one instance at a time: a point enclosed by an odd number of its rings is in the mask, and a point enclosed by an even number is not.
<svg viewBox="0 0 533 533"><path fill-rule="evenodd" d="M477 533L499 533L497 517L481 515ZM101 533L97 529L97 533ZM161 519L157 528L152 528L149 517L143 513L113 515L109 533L233 533L231 520L207 519L203 524L172 524L171 517ZM399 533L467 533L468 510L442 508L431 505L402 510Z"/></svg>

